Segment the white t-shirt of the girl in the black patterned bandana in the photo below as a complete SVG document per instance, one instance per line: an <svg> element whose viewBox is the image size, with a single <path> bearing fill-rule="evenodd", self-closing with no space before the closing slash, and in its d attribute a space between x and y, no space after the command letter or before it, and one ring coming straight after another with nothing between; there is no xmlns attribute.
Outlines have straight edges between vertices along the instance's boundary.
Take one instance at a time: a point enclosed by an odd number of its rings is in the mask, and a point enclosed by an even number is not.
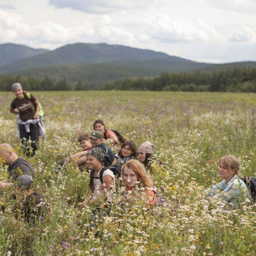
<svg viewBox="0 0 256 256"><path fill-rule="evenodd" d="M103 167L102 167L103 168ZM99 174L101 172L102 169L100 169L100 171L97 173L97 175L94 175L94 177L99 177ZM89 175L90 175L91 170L89 170ZM113 193L116 192L116 181L115 181L115 175L113 174L113 172L110 169L105 170L105 172L103 172L103 177L106 175L110 175L112 177L112 181L111 181L111 189L108 192L108 202L112 202L113 201ZM99 197L102 196L102 191L103 191L104 187L102 182L100 181L100 179L93 179L93 199L97 199Z"/></svg>

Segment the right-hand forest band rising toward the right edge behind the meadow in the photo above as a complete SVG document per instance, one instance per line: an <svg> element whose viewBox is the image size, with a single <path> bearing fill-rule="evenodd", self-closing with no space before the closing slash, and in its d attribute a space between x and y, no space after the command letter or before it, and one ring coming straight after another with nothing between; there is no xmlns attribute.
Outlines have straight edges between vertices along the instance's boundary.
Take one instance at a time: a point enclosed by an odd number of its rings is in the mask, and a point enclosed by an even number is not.
<svg viewBox="0 0 256 256"><path fill-rule="evenodd" d="M154 78L107 82L103 90L222 91L256 93L256 67L162 73Z"/></svg>

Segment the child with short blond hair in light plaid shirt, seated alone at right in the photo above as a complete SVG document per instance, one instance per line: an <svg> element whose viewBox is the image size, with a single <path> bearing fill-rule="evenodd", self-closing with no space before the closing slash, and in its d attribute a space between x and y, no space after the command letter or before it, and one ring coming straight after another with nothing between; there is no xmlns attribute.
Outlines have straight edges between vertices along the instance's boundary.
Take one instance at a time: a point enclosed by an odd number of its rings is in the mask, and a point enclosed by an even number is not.
<svg viewBox="0 0 256 256"><path fill-rule="evenodd" d="M224 180L206 189L207 195L226 202L232 208L238 208L244 198L251 200L247 185L238 176L239 161L236 157L221 157L218 164L219 175Z"/></svg>

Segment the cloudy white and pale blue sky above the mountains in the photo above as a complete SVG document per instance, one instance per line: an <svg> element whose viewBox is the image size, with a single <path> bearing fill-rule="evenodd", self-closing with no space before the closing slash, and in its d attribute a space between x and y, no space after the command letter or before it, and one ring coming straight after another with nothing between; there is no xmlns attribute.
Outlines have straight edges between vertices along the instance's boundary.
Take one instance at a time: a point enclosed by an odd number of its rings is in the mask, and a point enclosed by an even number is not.
<svg viewBox="0 0 256 256"><path fill-rule="evenodd" d="M5 43L107 43L198 62L256 61L256 0L0 0Z"/></svg>

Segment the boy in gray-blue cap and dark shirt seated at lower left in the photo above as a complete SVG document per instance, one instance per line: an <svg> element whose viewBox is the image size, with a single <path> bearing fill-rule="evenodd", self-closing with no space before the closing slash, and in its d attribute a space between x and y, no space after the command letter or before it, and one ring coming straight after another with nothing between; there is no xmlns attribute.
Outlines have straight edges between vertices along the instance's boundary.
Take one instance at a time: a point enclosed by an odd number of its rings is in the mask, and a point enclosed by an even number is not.
<svg viewBox="0 0 256 256"><path fill-rule="evenodd" d="M33 178L30 175L20 175L15 180L17 184L16 199L23 200L22 209L15 209L15 217L23 216L24 220L30 224L41 222L44 215L49 213L49 206L42 195L33 190ZM17 204L19 205L19 204Z"/></svg>

